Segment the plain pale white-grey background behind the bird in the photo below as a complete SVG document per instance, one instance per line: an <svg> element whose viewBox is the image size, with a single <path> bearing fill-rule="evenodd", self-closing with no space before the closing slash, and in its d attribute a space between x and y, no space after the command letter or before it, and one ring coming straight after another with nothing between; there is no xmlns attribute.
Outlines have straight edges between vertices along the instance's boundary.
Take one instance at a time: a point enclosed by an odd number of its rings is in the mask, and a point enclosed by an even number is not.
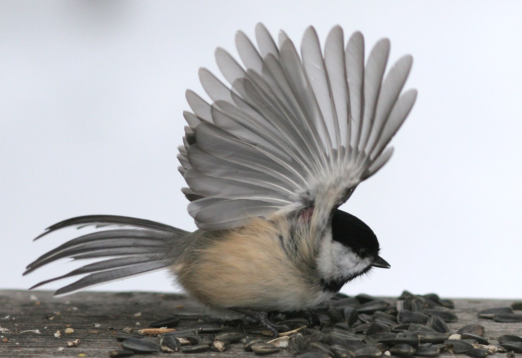
<svg viewBox="0 0 522 358"><path fill-rule="evenodd" d="M299 5L297 5L299 4ZM392 269L343 292L521 298L522 3L245 0L0 3L0 288L63 275L30 261L76 232L57 221L120 214L195 229L177 173L197 69L217 72L238 29L296 43L341 25L367 48L414 57L419 97L385 168L342 208L371 226ZM85 233L84 229L81 233ZM164 273L99 290L171 291ZM49 284L48 289L65 282Z"/></svg>

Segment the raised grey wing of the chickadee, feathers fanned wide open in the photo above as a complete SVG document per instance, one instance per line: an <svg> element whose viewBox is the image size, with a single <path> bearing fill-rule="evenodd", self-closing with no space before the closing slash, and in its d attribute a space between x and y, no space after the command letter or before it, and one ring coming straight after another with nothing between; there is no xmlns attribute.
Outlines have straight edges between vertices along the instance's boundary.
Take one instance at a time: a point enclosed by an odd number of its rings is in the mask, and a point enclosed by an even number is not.
<svg viewBox="0 0 522 358"><path fill-rule="evenodd" d="M331 212L392 156L387 147L410 112L416 90L401 94L412 57L388 70L389 40L377 42L364 66L364 39L342 29L328 34L324 52L313 27L301 56L284 32L278 45L256 27L257 49L243 32L236 45L243 65L222 49L218 66L231 87L202 68L212 104L186 98L180 172L198 228L229 229L251 217Z"/></svg>

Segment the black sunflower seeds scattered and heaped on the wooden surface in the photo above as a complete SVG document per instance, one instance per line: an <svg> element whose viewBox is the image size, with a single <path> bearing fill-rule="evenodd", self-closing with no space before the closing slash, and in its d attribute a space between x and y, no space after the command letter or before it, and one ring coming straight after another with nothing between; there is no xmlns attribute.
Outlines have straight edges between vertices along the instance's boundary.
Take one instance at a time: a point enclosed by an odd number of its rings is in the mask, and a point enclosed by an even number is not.
<svg viewBox="0 0 522 358"><path fill-rule="evenodd" d="M499 322L522 321L513 307L487 309L479 317ZM436 294L414 295L404 291L396 305L360 294L337 294L324 306L306 313L272 313L270 319L288 331L278 338L264 327L245 327L237 321L211 321L208 316L180 314L150 325L151 329L116 333L121 350L109 352L113 358L134 353L223 352L238 347L258 355L288 349L299 358L378 358L381 356L435 357L443 351L484 358L495 352L508 357L522 353L522 337L503 335L499 345L484 338L484 327L466 325L456 332L447 323L457 322L454 304ZM199 319L192 325L185 319ZM178 327L180 326L180 327ZM176 327L174 329L173 327ZM153 337L145 337L145 335Z"/></svg>

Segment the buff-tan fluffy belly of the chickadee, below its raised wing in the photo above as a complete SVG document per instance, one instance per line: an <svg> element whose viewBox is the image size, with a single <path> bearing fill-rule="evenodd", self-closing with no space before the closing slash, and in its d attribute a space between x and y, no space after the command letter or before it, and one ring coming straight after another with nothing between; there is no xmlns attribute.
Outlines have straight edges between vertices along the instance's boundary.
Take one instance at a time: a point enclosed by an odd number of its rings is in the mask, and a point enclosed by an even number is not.
<svg viewBox="0 0 522 358"><path fill-rule="evenodd" d="M177 267L177 281L213 308L295 311L332 296L310 271L298 269L274 235L231 235Z"/></svg>

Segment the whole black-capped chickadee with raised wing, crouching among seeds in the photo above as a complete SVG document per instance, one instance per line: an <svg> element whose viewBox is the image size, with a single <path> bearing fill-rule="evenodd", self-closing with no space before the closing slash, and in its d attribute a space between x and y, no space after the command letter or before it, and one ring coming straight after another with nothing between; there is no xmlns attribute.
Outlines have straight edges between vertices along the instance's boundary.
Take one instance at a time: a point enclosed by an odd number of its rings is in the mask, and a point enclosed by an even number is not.
<svg viewBox="0 0 522 358"><path fill-rule="evenodd" d="M101 230L50 250L23 275L62 258L98 261L31 289L87 275L55 292L65 295L167 269L212 312L250 316L277 335L266 312L310 309L372 268L390 267L372 229L339 207L392 156L389 142L417 98L416 89L403 91L412 56L385 74L390 41L379 40L365 64L362 33L345 45L340 26L323 49L312 26L300 52L286 32L275 40L262 23L255 38L257 47L236 32L242 64L217 48L229 85L199 69L210 101L186 91L192 111L183 113L178 170L198 229L112 215L58 222L34 240L69 226Z"/></svg>

